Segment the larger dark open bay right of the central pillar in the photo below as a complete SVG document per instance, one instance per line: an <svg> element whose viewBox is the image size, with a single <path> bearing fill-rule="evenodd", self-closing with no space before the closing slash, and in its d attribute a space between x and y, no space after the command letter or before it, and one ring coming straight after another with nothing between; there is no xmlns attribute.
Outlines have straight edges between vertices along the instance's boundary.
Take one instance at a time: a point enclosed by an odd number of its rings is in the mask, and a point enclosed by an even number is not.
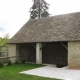
<svg viewBox="0 0 80 80"><path fill-rule="evenodd" d="M68 65L67 42L50 42L42 49L42 62L46 64Z"/></svg>

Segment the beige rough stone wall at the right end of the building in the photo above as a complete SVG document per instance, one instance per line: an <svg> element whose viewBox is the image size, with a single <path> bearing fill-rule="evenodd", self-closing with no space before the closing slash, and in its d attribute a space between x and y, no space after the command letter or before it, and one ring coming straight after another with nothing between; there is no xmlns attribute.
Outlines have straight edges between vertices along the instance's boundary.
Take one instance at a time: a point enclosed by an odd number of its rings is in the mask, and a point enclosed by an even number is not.
<svg viewBox="0 0 80 80"><path fill-rule="evenodd" d="M68 42L68 66L80 68L80 42Z"/></svg>

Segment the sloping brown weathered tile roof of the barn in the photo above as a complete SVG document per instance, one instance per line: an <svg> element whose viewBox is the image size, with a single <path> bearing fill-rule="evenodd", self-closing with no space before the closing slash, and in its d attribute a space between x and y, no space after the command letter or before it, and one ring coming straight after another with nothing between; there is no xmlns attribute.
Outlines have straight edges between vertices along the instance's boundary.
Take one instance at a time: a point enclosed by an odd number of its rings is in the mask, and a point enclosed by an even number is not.
<svg viewBox="0 0 80 80"><path fill-rule="evenodd" d="M80 12L29 20L9 43L80 40Z"/></svg>

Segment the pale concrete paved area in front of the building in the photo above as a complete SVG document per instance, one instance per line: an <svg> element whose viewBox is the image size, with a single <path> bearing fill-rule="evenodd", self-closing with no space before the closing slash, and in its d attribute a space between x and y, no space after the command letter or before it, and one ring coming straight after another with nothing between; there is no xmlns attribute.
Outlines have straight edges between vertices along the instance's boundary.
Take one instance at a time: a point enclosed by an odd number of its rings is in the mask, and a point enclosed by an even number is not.
<svg viewBox="0 0 80 80"><path fill-rule="evenodd" d="M23 71L20 73L41 77L58 78L61 80L80 80L80 70L71 70L67 69L67 67L56 68L55 66L50 65L28 71Z"/></svg>

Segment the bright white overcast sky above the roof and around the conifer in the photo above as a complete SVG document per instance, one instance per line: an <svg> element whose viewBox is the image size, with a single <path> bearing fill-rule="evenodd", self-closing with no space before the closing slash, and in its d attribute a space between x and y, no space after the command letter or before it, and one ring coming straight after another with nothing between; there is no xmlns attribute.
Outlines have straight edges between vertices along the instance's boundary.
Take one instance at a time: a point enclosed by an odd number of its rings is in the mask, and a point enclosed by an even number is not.
<svg viewBox="0 0 80 80"><path fill-rule="evenodd" d="M51 16L80 12L80 0L45 0ZM0 0L0 37L11 38L29 20L32 0Z"/></svg>

